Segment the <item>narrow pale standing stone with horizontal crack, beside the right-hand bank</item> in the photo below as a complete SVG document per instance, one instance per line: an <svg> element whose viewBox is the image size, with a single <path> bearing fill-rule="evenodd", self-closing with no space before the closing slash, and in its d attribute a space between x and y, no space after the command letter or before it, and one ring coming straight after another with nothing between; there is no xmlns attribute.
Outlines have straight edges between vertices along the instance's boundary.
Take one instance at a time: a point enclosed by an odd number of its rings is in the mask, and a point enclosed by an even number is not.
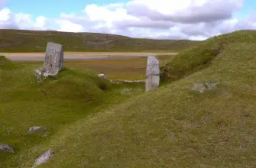
<svg viewBox="0 0 256 168"><path fill-rule="evenodd" d="M146 92L152 89L157 89L160 81L159 61L154 56L147 57L147 72L146 72Z"/></svg>

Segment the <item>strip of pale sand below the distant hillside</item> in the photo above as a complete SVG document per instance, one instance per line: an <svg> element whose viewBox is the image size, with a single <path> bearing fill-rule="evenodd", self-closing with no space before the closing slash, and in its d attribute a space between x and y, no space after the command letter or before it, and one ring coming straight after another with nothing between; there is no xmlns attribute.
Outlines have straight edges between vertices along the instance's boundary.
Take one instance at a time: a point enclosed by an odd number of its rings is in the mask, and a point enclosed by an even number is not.
<svg viewBox="0 0 256 168"><path fill-rule="evenodd" d="M121 53L121 52L64 52L64 57L120 57L120 56L148 56L148 55L176 55L177 53ZM45 53L0 53L6 57L44 57Z"/></svg>

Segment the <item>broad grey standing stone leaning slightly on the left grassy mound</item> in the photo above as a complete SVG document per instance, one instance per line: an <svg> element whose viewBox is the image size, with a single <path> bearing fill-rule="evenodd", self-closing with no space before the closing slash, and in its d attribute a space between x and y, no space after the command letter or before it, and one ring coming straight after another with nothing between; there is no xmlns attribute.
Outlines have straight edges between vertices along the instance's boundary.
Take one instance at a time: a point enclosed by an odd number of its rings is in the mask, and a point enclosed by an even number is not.
<svg viewBox="0 0 256 168"><path fill-rule="evenodd" d="M63 68L63 46L49 42L44 60L44 71L48 76L56 76Z"/></svg>

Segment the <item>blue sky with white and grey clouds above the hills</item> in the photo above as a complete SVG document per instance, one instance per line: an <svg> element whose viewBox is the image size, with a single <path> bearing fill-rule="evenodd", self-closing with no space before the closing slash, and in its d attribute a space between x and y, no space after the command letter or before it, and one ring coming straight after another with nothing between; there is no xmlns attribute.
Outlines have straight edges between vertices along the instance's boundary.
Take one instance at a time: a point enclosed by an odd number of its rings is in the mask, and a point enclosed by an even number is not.
<svg viewBox="0 0 256 168"><path fill-rule="evenodd" d="M0 0L0 29L204 40L256 30L256 0Z"/></svg>

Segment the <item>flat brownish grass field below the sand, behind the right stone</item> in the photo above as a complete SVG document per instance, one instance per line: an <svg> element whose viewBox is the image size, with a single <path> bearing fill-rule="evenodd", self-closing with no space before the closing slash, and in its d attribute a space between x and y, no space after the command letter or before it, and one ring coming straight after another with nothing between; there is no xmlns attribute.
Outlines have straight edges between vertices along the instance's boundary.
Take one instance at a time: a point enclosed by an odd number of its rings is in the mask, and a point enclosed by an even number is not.
<svg viewBox="0 0 256 168"><path fill-rule="evenodd" d="M160 65L173 59L172 55L158 56ZM108 79L145 79L147 58L117 59L117 60L82 60L66 61L66 67L74 69L92 69L104 73Z"/></svg>

